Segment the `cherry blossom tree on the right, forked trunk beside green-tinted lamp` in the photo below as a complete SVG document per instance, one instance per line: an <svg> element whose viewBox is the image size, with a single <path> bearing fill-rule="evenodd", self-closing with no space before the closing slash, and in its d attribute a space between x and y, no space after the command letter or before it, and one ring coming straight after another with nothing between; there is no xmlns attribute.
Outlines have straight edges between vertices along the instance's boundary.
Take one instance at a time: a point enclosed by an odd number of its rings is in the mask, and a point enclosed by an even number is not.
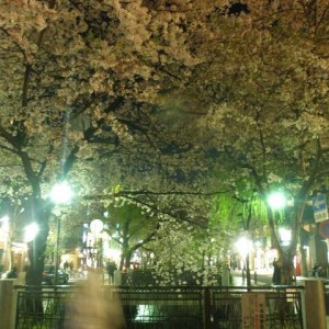
<svg viewBox="0 0 329 329"><path fill-rule="evenodd" d="M282 282L290 283L306 202L328 178L328 58L322 42L328 3L275 4L237 20L241 34L227 43L230 58L220 64L218 76L213 69L204 75L215 81L225 78L207 127L236 180L245 180L266 204ZM279 224L266 203L279 186L294 202L287 248L280 243Z"/></svg>

